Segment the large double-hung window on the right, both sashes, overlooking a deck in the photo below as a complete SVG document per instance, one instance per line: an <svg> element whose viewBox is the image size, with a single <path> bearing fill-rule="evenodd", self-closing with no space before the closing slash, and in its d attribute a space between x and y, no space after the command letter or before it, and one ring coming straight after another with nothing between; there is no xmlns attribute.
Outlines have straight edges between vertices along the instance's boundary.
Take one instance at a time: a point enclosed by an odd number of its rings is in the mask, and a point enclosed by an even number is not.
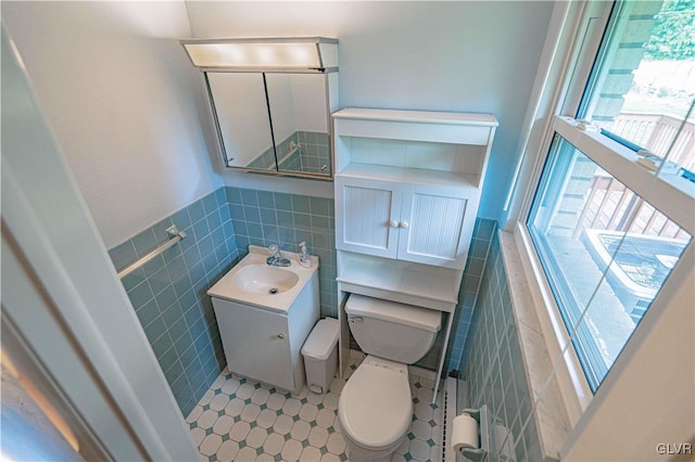
<svg viewBox="0 0 695 462"><path fill-rule="evenodd" d="M694 35L693 1L616 3L553 123L526 226L594 393L692 241Z"/></svg>

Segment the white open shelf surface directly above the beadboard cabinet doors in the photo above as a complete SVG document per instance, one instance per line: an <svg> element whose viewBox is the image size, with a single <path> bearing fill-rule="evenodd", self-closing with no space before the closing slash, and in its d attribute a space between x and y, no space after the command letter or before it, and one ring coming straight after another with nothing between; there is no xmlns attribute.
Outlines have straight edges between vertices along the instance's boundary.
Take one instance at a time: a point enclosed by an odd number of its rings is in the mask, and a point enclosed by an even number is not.
<svg viewBox="0 0 695 462"><path fill-rule="evenodd" d="M406 183L478 188L476 175L375 164L348 164L336 176Z"/></svg>

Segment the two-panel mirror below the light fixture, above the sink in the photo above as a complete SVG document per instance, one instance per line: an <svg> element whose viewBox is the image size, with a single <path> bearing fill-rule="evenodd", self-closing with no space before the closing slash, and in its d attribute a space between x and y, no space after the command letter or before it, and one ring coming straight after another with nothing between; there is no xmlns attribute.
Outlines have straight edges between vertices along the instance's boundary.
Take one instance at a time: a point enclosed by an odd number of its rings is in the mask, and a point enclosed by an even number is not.
<svg viewBox="0 0 695 462"><path fill-rule="evenodd" d="M330 179L328 76L206 72L225 165Z"/></svg>

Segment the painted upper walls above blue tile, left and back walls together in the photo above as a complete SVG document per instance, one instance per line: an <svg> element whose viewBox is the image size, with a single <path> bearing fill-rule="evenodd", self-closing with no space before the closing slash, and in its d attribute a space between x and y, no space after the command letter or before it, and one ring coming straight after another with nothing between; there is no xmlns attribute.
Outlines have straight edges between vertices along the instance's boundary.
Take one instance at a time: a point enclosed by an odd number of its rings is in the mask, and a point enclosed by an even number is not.
<svg viewBox="0 0 695 462"><path fill-rule="evenodd" d="M491 112L480 215L508 188L551 2L3 2L108 247L222 184L185 37L340 39L341 106ZM332 196L329 182L224 172L226 184Z"/></svg>

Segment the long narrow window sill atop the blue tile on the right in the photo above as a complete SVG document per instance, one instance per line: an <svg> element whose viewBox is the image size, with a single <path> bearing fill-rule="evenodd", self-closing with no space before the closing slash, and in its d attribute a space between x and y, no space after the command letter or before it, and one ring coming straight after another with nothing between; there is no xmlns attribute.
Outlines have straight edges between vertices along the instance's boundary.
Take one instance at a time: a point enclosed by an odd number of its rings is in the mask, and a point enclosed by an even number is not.
<svg viewBox="0 0 695 462"><path fill-rule="evenodd" d="M560 450L570 432L570 421L560 385L554 376L554 363L536 315L535 301L525 277L527 271L517 249L515 236L509 232L500 231L500 246L509 284L527 383L533 399L533 418L539 431L541 450L546 460L559 460Z"/></svg>

